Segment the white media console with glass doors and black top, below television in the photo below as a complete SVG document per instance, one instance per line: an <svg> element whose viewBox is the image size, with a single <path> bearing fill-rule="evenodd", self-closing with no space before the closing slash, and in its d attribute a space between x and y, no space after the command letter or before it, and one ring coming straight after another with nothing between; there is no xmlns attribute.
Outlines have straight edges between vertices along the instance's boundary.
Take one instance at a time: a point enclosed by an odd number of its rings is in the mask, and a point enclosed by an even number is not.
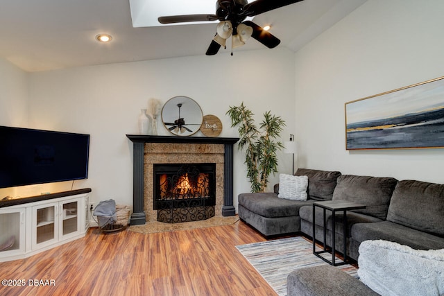
<svg viewBox="0 0 444 296"><path fill-rule="evenodd" d="M0 202L0 262L23 259L85 236L89 192L78 189Z"/></svg>

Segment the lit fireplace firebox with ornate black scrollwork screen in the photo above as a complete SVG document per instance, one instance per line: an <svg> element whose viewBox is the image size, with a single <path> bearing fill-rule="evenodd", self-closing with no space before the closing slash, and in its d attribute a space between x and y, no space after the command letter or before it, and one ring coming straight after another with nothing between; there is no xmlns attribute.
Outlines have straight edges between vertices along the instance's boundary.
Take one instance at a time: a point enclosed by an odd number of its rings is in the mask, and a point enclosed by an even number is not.
<svg viewBox="0 0 444 296"><path fill-rule="evenodd" d="M180 223L214 216L216 164L154 164L157 221Z"/></svg>

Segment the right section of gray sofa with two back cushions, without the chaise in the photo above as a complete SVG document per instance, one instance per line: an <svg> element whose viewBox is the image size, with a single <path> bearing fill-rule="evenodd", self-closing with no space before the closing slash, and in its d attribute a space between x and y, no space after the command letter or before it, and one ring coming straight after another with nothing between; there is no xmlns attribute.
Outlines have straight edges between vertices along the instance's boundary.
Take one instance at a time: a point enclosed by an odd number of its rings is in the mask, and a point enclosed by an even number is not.
<svg viewBox="0 0 444 296"><path fill-rule="evenodd" d="M341 175L332 200L366 204L347 214L348 256L357 260L363 241L382 239L419 250L444 248L444 185L390 177ZM327 211L328 212L328 211ZM300 208L301 232L312 236L313 207ZM327 213L327 245L332 218ZM343 250L343 215L336 214L336 250ZM316 209L316 238L323 240L323 216Z"/></svg>

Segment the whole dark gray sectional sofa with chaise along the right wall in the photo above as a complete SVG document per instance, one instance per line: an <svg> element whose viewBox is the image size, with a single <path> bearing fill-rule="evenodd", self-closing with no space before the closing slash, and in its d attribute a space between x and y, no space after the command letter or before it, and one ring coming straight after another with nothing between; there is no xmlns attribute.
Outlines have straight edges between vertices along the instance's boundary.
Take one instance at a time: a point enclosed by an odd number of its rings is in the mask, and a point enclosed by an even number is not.
<svg viewBox="0 0 444 296"><path fill-rule="evenodd" d="M239 218L264 236L302 232L312 237L316 200L349 200L366 209L348 211L348 256L357 260L359 244L383 239L419 250L444 248L444 184L392 177L341 175L337 171L299 168L308 176L306 201L278 198L273 193L241 193ZM331 245L332 217L327 211L327 245ZM343 250L343 215L336 214L336 250ZM323 242L322 210L316 208L316 239Z"/></svg>

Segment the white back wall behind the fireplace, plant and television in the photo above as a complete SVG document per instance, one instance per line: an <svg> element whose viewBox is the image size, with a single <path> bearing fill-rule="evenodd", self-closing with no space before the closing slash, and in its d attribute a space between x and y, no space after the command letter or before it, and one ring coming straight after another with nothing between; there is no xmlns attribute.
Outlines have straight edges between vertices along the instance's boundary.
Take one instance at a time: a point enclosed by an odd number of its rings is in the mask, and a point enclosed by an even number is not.
<svg viewBox="0 0 444 296"><path fill-rule="evenodd" d="M149 98L166 102L189 96L203 114L223 122L220 137L237 137L230 128L230 105L242 101L257 118L271 110L289 127L295 125L294 54L287 49L219 53L189 58L110 64L31 73L28 126L91 134L89 176L74 182L74 189L92 188L92 200L114 198L133 204L133 146L126 134L137 134L137 117ZM163 126L160 134L169 134ZM287 128L286 140L294 133ZM172 135L171 135L172 136ZM196 136L203 136L200 132ZM281 170L291 172L289 155L281 155ZM250 191L243 153L235 148L234 204L237 194ZM278 175L271 180L271 186ZM71 182L24 186L19 195L70 190ZM14 194L14 193L12 193ZM12 195L10 194L10 195ZM14 195L15 196L15 195Z"/></svg>

